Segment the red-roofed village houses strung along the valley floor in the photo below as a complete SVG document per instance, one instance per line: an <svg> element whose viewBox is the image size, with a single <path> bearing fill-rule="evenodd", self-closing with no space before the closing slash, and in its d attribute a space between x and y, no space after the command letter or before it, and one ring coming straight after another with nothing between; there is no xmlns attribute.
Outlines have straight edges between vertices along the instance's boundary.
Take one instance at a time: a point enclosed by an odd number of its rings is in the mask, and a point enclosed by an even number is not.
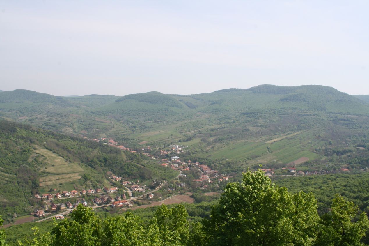
<svg viewBox="0 0 369 246"><path fill-rule="evenodd" d="M87 138L87 137L84 137ZM82 189L72 191L62 191L36 194L35 199L41 201L39 204L41 208L36 208L34 213L36 217L47 217L56 219L64 219L65 215L68 215L73 209L76 209L78 205L91 207L93 209L104 209L108 212L117 212L121 209L135 209L145 207L147 204L159 205L162 204L167 198L175 195L192 194L193 189L200 188L200 190L206 190L210 188L211 184L220 184L233 178L229 174L221 174L218 170L213 170L211 167L199 162L193 162L184 158L181 158L181 154L185 152L187 146L172 144L170 146L159 149L158 146L151 148L150 146L139 147L130 149L119 145L112 138L100 138L89 139L92 141L100 142L109 146L117 147L123 151L130 151L130 153L142 154L148 158L154 159L158 165L171 168L172 170L179 171L179 175L174 180L168 181L152 181L152 185L140 184L139 180L123 180L122 177L114 175L113 172L108 171L107 175L111 183L118 185L118 187L103 187L94 189ZM294 164L294 162L289 163ZM295 166L282 167L279 170L275 168L261 168L266 176L272 175L322 175L331 173L329 171L307 171L297 170ZM349 171L346 168L335 170L334 172ZM276 173L277 172L277 173ZM233 174L234 175L234 174ZM187 177L190 176L190 177ZM217 185L218 186L218 185ZM209 192L212 193L212 192ZM181 200L179 200L181 201ZM187 199L187 202L192 202L193 199ZM145 206L140 206L145 204ZM118 210L117 210L118 209Z"/></svg>

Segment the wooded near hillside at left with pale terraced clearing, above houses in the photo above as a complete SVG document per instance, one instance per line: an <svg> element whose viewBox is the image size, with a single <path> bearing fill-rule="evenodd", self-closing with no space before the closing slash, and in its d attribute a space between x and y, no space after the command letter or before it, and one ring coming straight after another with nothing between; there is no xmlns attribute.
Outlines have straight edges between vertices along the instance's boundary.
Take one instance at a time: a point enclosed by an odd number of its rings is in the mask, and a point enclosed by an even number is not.
<svg viewBox="0 0 369 246"><path fill-rule="evenodd" d="M124 153L123 153L124 152ZM0 215L33 211L31 199L72 189L103 188L107 171L129 181L174 178L151 158L103 143L0 120ZM55 192L55 191L53 191Z"/></svg>

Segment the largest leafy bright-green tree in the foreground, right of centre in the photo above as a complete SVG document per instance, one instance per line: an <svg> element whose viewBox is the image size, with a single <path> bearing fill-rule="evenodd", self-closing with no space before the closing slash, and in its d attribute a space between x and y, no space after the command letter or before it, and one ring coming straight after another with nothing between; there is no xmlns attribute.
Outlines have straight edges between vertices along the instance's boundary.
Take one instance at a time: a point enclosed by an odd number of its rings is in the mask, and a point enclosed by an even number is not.
<svg viewBox="0 0 369 246"><path fill-rule="evenodd" d="M319 220L313 194L292 195L260 169L243 176L227 185L204 221L210 245L312 245Z"/></svg>

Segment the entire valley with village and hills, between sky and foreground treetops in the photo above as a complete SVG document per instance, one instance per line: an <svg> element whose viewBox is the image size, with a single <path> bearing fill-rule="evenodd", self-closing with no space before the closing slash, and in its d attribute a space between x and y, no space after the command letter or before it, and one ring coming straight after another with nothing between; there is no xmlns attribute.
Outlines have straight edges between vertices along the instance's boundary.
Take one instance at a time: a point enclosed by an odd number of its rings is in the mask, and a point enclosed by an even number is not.
<svg viewBox="0 0 369 246"><path fill-rule="evenodd" d="M355 197L340 187L367 181L369 104L334 88L75 98L15 90L1 92L0 102L0 214L9 228L35 209L54 216L51 206L67 201L86 201L104 218L132 211L146 222L162 204L184 204L201 221L227 184L258 168L293 193L313 192L320 214L337 192L369 208L366 190ZM334 187L325 181L332 177ZM110 188L130 205L114 206L103 191ZM56 199L72 190L78 195ZM35 198L42 194L55 198Z"/></svg>

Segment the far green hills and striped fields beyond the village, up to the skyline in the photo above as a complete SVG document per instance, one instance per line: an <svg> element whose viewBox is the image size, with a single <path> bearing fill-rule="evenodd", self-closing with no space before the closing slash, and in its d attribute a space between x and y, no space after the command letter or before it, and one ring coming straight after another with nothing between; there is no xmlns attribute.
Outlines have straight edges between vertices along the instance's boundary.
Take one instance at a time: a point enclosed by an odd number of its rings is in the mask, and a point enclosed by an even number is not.
<svg viewBox="0 0 369 246"><path fill-rule="evenodd" d="M188 146L183 158L237 161L228 171L322 159L318 150L324 146L351 148L369 136L368 103L328 86L259 85L123 97L4 93L0 113L5 119L77 136L108 136L131 148L181 143Z"/></svg>

